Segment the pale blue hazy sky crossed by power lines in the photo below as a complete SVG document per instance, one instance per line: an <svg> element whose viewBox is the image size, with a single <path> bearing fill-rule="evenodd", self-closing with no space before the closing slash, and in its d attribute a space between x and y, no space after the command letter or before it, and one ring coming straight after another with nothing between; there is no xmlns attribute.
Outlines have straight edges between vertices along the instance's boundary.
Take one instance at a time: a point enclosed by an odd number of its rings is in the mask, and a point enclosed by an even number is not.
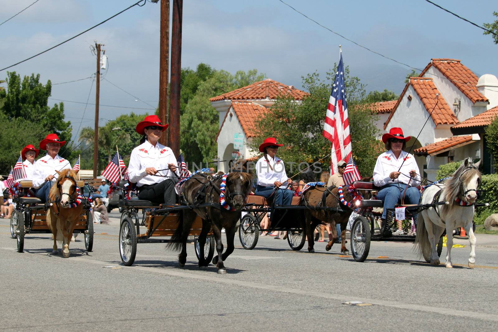
<svg viewBox="0 0 498 332"><path fill-rule="evenodd" d="M39 0L0 25L0 69L136 1ZM431 58L453 58L477 76L498 76L498 45L492 37L425 0L284 1L334 32L408 66L423 69ZM32 2L0 0L0 22ZM479 25L493 22L493 11L498 11L496 0L434 2ZM159 100L159 12L159 3L134 6L64 45L0 72L0 79L15 71L21 76L39 73L43 83L51 80L49 105L72 101L64 107L75 136L80 126L94 126L95 106L89 104L85 110L85 104L87 99L95 103L95 82L64 82L95 73L96 57L90 46L97 40L105 45L109 60L108 69L101 71L105 79L99 124L131 111L151 113ZM279 0L183 1L182 68L195 69L200 62L231 73L255 68L267 78L299 89L301 77L308 73L317 71L325 77L339 61L339 45L345 65L367 85L367 91L401 93L411 68L355 45Z"/></svg>

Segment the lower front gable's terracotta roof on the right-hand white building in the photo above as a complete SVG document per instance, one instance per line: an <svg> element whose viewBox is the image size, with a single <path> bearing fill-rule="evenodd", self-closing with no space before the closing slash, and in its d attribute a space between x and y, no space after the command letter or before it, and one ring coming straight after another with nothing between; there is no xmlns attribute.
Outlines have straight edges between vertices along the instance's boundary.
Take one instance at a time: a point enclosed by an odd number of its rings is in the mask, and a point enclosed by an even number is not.
<svg viewBox="0 0 498 332"><path fill-rule="evenodd" d="M439 90L437 90L431 78L410 77L410 80L408 81L408 83L406 83L406 86L401 93L401 96L399 96L396 105L393 107L391 114L387 118L387 121L385 121L384 129L387 127L387 124L391 120L399 103L401 103L401 100L403 99L406 90L408 90L409 85L413 87L413 90L415 90L415 93L422 101L422 104L424 104L427 112L431 114L432 120L436 125L457 124L459 122L458 118L455 116L455 113L453 113L453 111L448 106L448 103L446 103L444 98L441 96L441 93L439 92ZM438 103L434 111L432 111L432 109L436 105L436 94L439 94Z"/></svg>

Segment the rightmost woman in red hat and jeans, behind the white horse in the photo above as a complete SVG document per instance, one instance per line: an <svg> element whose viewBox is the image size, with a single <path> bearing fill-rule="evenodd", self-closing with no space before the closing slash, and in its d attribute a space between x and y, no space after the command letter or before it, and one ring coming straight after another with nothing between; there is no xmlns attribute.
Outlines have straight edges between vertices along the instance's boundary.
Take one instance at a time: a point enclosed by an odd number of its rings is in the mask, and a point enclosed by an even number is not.
<svg viewBox="0 0 498 332"><path fill-rule="evenodd" d="M377 199L384 202L382 221L385 221L386 209L394 208L398 204L407 187L405 203L418 204L420 200L420 192L416 188L420 185L420 171L413 155L403 151L410 138L411 136L405 137L403 130L398 127L391 128L388 133L382 135L382 142L387 151L377 157L373 169L373 183L382 188L377 193ZM414 219L416 220L416 216ZM398 228L401 228L400 225ZM396 235L402 233L400 229L394 232Z"/></svg>

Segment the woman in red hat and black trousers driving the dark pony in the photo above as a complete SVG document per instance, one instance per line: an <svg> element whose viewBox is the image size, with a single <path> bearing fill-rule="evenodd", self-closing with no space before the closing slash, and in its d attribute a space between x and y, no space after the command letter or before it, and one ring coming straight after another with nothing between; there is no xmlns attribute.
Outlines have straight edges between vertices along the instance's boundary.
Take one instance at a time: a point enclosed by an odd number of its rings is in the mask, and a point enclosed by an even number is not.
<svg viewBox="0 0 498 332"><path fill-rule="evenodd" d="M178 165L173 151L158 142L167 127L157 115L148 115L138 122L135 130L143 137L131 151L128 174L129 180L136 183L139 199L173 205Z"/></svg>

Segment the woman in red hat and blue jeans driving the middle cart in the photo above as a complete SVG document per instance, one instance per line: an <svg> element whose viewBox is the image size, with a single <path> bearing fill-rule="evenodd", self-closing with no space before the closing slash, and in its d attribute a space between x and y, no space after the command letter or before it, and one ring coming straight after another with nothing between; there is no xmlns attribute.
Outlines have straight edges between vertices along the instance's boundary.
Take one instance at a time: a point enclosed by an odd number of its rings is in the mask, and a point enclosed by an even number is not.
<svg viewBox="0 0 498 332"><path fill-rule="evenodd" d="M282 159L276 156L277 150L283 144L278 144L274 137L268 137L259 145L263 156L256 162L256 191L255 195L269 198L275 193L275 204L290 205L292 191L287 190L287 184L292 180L287 177ZM275 188L276 189L275 191Z"/></svg>

